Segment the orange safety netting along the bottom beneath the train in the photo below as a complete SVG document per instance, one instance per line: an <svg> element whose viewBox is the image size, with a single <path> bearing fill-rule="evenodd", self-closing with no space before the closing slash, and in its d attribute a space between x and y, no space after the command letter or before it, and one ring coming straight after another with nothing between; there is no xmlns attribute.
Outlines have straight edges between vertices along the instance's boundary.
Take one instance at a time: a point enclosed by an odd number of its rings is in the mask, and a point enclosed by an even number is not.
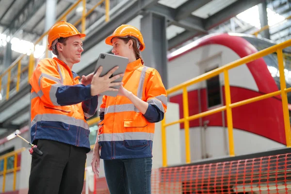
<svg viewBox="0 0 291 194"><path fill-rule="evenodd" d="M152 194L291 194L291 154L153 169L151 179Z"/></svg>

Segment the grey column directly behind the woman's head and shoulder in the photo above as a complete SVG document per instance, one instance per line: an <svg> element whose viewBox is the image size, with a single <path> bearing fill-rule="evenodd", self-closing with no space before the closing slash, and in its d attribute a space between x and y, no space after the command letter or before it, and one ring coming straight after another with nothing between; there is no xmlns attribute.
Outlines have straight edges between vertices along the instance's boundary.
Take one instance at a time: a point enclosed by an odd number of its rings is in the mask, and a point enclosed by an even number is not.
<svg viewBox="0 0 291 194"><path fill-rule="evenodd" d="M146 49L142 52L145 65L158 70L165 88L168 88L166 38L167 20L164 16L147 13L141 19L141 32Z"/></svg>

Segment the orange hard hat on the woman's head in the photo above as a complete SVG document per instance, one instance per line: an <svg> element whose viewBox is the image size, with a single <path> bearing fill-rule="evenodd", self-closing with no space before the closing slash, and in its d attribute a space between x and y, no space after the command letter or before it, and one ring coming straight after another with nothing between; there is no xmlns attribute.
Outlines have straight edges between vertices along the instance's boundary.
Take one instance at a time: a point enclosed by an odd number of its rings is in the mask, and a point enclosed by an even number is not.
<svg viewBox="0 0 291 194"><path fill-rule="evenodd" d="M130 26L126 24L119 26L113 32L112 36L109 36L105 39L105 43L108 45L112 45L112 39L115 37L124 37L124 38L134 37L139 41L140 43L139 49L141 51L143 51L146 48L142 33L134 26Z"/></svg>

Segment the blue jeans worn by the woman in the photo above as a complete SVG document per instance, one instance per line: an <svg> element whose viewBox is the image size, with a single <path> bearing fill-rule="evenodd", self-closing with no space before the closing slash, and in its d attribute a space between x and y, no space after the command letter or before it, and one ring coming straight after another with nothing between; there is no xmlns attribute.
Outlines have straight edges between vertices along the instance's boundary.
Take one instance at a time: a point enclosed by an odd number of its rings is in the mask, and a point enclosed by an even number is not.
<svg viewBox="0 0 291 194"><path fill-rule="evenodd" d="M110 194L150 194L152 158L104 160Z"/></svg>

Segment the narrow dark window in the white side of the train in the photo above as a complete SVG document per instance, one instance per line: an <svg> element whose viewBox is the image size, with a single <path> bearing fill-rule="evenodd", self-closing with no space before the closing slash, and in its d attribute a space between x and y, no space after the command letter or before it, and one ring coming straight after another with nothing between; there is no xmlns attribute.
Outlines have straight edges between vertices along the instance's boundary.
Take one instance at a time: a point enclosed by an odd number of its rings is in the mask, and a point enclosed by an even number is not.
<svg viewBox="0 0 291 194"><path fill-rule="evenodd" d="M215 67L215 68L217 68L217 67ZM211 108L211 107L214 107L214 106L221 104L221 91L220 91L219 75L214 76L206 81L206 95L207 95L208 108Z"/></svg>

